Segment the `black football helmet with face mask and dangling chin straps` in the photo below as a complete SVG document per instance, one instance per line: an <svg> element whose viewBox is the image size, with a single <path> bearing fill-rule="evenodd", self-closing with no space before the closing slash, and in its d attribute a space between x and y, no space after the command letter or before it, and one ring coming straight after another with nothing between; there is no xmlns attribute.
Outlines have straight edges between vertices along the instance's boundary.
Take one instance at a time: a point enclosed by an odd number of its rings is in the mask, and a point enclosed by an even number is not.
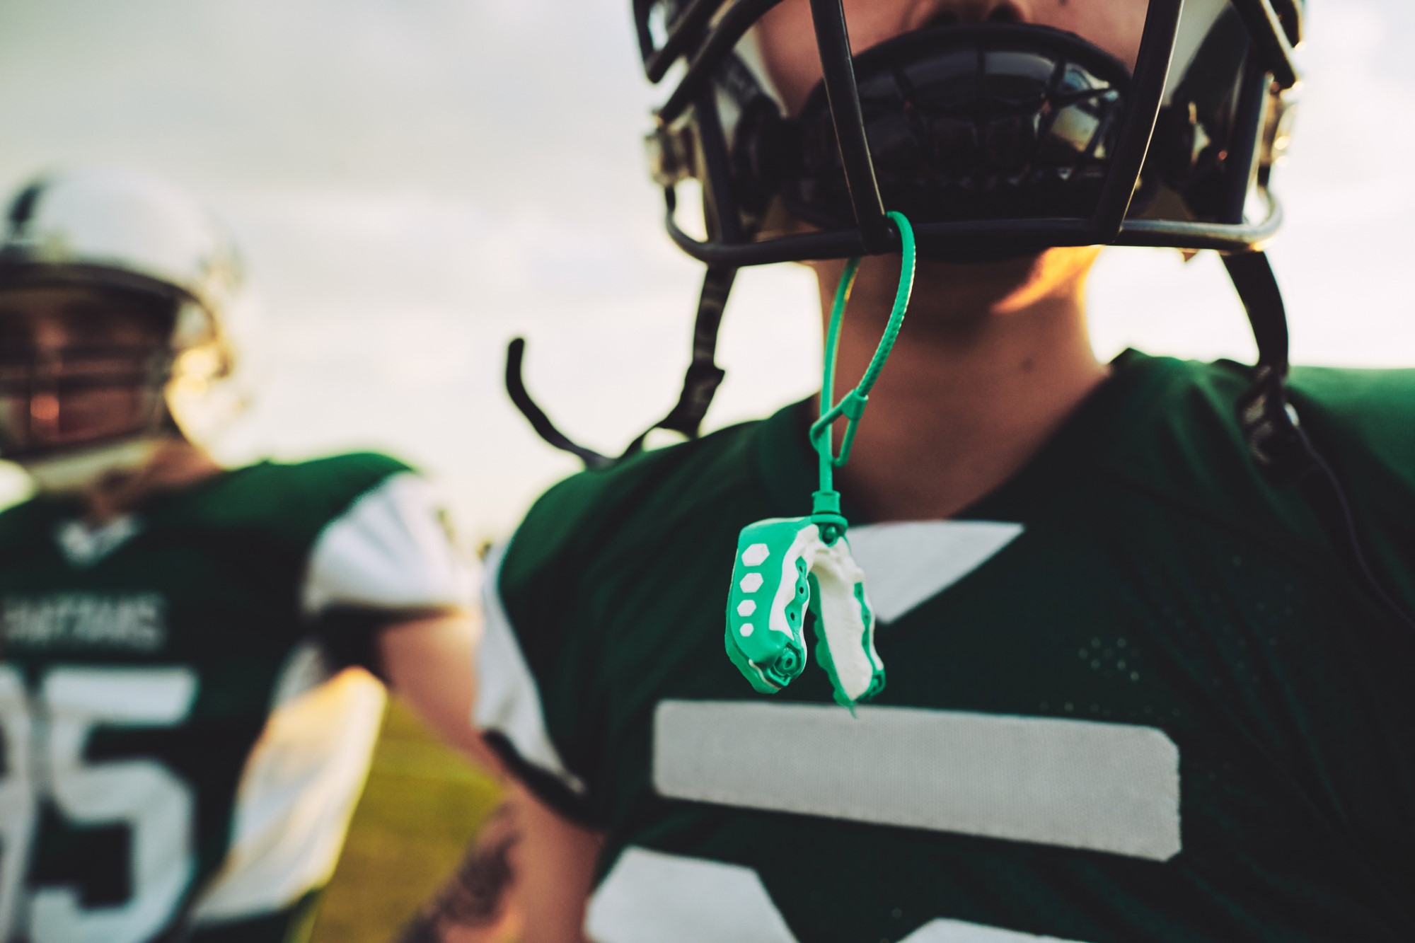
<svg viewBox="0 0 1415 943"><path fill-rule="evenodd" d="M1282 222L1271 176L1299 86L1303 0L1150 0L1133 71L1081 37L1019 23L925 27L852 57L842 0L811 0L824 79L798 115L753 61L753 27L778 3L634 0L644 69L669 85L649 173L669 236L708 266L683 392L657 428L698 433L723 378L716 336L739 268L893 252L884 214L899 210L924 258L1068 245L1225 253L1261 354L1240 405L1254 456L1279 479L1309 467L1283 392L1282 297L1261 251ZM700 236L679 224L689 180ZM522 351L514 343L508 360L516 405L553 445L607 462L531 402Z"/></svg>

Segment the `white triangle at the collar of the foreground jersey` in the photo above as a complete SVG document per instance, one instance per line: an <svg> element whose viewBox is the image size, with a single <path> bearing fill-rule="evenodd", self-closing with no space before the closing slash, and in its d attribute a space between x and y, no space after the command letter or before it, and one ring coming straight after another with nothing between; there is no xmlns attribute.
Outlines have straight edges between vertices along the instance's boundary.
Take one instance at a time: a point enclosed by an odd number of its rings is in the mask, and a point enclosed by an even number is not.
<svg viewBox="0 0 1415 943"><path fill-rule="evenodd" d="M992 521L904 521L852 527L848 539L874 615L893 622L986 564L1022 531L1022 524Z"/></svg>

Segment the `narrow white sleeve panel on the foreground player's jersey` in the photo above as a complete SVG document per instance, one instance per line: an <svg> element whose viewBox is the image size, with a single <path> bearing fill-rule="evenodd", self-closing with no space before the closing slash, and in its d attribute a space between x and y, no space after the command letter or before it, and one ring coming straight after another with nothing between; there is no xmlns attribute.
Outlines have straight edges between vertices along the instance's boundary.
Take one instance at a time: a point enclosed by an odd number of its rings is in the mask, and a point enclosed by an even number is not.
<svg viewBox="0 0 1415 943"><path fill-rule="evenodd" d="M487 555L481 590L487 624L477 647L477 705L473 719L483 731L495 731L511 741L521 759L553 775L570 790L583 793L584 783L566 769L550 742L541 688L521 654L511 617L501 602L498 583L505 555L505 545Z"/></svg>

